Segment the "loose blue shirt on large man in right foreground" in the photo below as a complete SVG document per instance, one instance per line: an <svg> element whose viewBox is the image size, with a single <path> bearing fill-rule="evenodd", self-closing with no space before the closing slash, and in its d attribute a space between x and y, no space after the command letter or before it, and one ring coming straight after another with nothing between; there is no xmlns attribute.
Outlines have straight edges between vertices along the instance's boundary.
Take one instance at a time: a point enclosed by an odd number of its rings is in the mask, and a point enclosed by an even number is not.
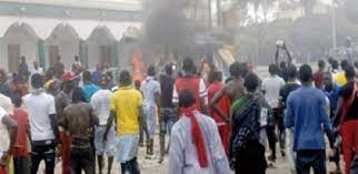
<svg viewBox="0 0 358 174"><path fill-rule="evenodd" d="M312 86L301 86L289 94L285 126L294 127L294 151L325 150L322 127L332 132L325 105L324 92Z"/></svg>

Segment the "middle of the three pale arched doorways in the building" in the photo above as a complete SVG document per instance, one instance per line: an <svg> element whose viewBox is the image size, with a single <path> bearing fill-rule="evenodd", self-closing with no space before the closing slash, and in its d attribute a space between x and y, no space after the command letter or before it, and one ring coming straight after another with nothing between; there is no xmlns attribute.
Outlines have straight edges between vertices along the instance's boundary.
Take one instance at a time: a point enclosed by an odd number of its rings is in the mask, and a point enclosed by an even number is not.
<svg viewBox="0 0 358 174"><path fill-rule="evenodd" d="M74 57L79 55L80 38L69 24L58 24L51 35L46 40L48 45L47 64L52 65L57 57L61 57L66 70L71 70Z"/></svg>

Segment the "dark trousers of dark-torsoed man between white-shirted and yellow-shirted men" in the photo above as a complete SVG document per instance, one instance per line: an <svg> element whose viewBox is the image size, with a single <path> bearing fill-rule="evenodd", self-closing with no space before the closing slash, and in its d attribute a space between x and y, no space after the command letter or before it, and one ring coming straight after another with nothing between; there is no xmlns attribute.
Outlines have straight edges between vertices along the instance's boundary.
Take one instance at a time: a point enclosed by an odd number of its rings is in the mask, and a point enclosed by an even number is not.
<svg viewBox="0 0 358 174"><path fill-rule="evenodd" d="M80 174L83 170L86 174L95 174L95 154L92 147L71 146L70 171L71 174Z"/></svg>

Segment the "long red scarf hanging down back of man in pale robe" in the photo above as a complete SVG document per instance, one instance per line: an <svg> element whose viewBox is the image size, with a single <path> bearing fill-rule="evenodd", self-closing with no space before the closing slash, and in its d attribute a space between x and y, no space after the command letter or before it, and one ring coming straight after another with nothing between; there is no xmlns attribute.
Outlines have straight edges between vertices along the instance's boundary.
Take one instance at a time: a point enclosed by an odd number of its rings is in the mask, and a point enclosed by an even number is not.
<svg viewBox="0 0 358 174"><path fill-rule="evenodd" d="M207 157L207 151L202 137L202 132L199 125L199 122L197 117L193 114L193 111L196 111L195 106L188 108L188 109L181 109L181 113L190 119L191 122L191 134L192 134L192 142L196 145L197 154L199 164L201 167L208 166L208 157Z"/></svg>

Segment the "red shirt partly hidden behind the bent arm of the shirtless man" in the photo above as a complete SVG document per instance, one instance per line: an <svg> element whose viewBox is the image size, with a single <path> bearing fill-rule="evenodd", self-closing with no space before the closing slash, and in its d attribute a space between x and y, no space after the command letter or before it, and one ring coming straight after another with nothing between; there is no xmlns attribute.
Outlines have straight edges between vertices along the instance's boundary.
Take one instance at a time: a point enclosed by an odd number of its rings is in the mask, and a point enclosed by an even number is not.
<svg viewBox="0 0 358 174"><path fill-rule="evenodd" d="M216 93L218 93L223 88L223 84L221 82L213 82L208 88L208 101L210 102L211 99ZM223 112L225 115L229 116L230 114L230 99L229 96L225 95L220 99L218 102L218 108ZM209 113L212 116L212 119L217 122L218 125L223 124L225 121L221 119L221 116L213 112L212 108L209 106Z"/></svg>

